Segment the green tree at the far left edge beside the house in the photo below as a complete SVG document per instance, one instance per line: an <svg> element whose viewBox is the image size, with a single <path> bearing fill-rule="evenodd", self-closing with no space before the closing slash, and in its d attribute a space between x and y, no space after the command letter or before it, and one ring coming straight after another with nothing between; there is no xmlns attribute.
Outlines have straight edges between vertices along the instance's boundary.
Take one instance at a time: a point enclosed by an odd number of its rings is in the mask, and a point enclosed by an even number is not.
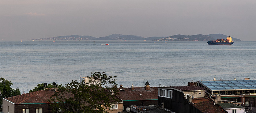
<svg viewBox="0 0 256 113"><path fill-rule="evenodd" d="M3 110L3 98L7 97L13 97L16 95L20 95L20 90L19 88L16 88L16 90L11 88L12 82L8 81L4 78L0 78L0 111Z"/></svg>

